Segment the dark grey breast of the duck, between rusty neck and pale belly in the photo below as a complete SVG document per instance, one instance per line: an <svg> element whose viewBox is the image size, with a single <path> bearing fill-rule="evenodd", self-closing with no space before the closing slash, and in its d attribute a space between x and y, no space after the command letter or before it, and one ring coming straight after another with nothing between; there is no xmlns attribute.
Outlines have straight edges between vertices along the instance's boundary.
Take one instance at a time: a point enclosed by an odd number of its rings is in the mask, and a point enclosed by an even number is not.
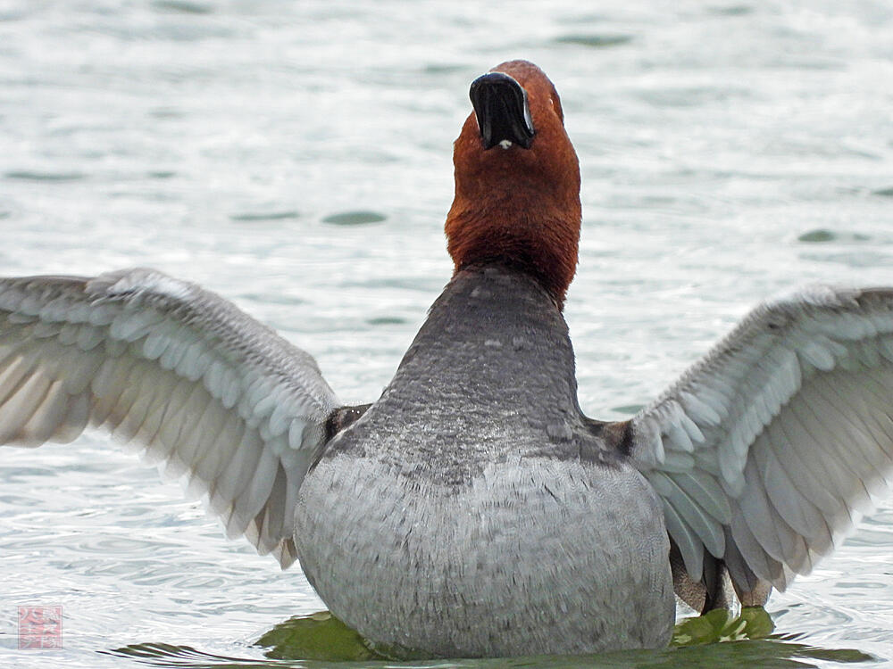
<svg viewBox="0 0 893 669"><path fill-rule="evenodd" d="M506 458L619 457L580 414L561 311L535 280L499 267L447 285L380 400L323 458L346 452L446 485Z"/></svg>

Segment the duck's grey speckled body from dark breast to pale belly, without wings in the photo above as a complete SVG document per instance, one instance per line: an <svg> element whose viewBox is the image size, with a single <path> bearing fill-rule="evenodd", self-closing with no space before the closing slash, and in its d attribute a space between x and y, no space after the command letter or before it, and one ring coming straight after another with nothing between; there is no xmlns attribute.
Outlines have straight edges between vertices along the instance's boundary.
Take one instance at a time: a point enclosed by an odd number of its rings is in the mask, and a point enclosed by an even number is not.
<svg viewBox="0 0 893 669"><path fill-rule="evenodd" d="M655 492L580 414L555 303L504 268L447 286L307 475L295 539L332 612L381 643L508 656L672 632Z"/></svg>

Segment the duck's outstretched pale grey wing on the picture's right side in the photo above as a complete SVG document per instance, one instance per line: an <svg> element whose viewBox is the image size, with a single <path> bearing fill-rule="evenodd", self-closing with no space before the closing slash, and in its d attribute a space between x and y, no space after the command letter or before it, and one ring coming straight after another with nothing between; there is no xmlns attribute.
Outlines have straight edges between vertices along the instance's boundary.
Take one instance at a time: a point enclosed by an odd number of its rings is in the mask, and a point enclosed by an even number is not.
<svg viewBox="0 0 893 669"><path fill-rule="evenodd" d="M893 289L764 303L629 434L691 578L784 590L893 482Z"/></svg>

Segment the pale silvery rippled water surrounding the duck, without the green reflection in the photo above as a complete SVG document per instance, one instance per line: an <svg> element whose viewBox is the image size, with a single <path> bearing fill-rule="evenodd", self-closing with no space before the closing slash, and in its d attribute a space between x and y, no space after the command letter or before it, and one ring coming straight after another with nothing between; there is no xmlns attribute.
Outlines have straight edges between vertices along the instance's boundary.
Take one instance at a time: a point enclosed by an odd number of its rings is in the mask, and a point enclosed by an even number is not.
<svg viewBox="0 0 893 669"><path fill-rule="evenodd" d="M0 274L163 269L375 399L450 273L472 78L537 62L580 154L580 403L623 417L765 296L893 284L888 2L0 0ZM381 220L327 222L347 212ZM350 224L350 220L354 224ZM0 451L0 666L248 643L322 608L91 434ZM64 607L62 651L13 649ZM893 665L893 503L770 605ZM684 665L680 661L680 665Z"/></svg>

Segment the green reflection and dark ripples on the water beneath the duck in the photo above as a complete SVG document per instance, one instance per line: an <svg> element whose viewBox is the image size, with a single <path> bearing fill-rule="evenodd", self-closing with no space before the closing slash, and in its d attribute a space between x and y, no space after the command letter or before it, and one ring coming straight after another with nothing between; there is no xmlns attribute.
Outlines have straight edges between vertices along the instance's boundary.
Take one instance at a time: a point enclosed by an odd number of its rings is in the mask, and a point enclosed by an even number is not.
<svg viewBox="0 0 893 669"><path fill-rule="evenodd" d="M850 648L817 648L790 636L772 635L772 618L763 608L739 616L711 611L676 625L670 648L630 650L588 656L495 659L407 659L402 648L373 646L328 611L294 617L257 640L266 660L203 653L188 646L138 644L111 651L147 665L222 669L224 667L811 667L815 661L855 664L876 658ZM402 658L402 659L397 659Z"/></svg>

